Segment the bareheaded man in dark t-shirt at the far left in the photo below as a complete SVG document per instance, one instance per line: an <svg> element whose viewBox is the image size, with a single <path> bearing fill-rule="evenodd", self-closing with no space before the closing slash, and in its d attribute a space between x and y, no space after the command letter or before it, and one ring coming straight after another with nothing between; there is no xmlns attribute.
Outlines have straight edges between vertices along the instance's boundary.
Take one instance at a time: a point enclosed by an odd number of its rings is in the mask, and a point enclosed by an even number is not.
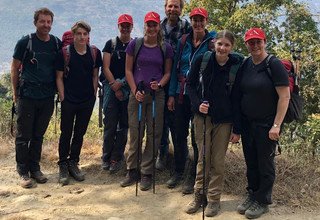
<svg viewBox="0 0 320 220"><path fill-rule="evenodd" d="M20 185L32 188L46 183L40 159L43 135L54 109L56 93L54 62L61 41L49 34L54 14L48 8L34 13L36 32L16 44L11 65L13 102L17 105L15 139Z"/></svg>

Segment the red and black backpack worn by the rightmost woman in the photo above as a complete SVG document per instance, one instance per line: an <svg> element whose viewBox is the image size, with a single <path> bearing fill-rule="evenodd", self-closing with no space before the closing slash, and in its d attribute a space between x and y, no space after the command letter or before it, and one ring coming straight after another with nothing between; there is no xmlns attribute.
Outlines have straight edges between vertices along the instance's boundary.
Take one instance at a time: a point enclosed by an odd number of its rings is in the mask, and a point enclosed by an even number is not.
<svg viewBox="0 0 320 220"><path fill-rule="evenodd" d="M273 55L268 55L266 60L266 68L269 78L272 80L272 73L270 68L270 60L274 57ZM289 77L289 87L290 87L290 101L287 113L284 117L284 123L291 123L292 121L298 121L302 119L304 99L300 96L300 88L298 83L298 76L294 71L293 64L290 60L280 60L285 69L288 72Z"/></svg>

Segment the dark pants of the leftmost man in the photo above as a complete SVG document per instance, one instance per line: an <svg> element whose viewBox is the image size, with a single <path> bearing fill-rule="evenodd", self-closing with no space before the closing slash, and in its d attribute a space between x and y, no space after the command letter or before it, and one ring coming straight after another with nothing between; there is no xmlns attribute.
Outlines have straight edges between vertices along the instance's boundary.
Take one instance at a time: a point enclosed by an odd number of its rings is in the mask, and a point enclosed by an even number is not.
<svg viewBox="0 0 320 220"><path fill-rule="evenodd" d="M43 135L54 108L53 97L21 98L17 103L16 162L20 175L40 170Z"/></svg>

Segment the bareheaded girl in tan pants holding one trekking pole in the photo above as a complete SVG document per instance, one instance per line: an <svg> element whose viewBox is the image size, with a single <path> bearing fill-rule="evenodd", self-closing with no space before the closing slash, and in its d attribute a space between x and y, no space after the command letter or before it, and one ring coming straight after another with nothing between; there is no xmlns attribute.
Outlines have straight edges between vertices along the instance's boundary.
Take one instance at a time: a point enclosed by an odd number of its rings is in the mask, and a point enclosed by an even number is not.
<svg viewBox="0 0 320 220"><path fill-rule="evenodd" d="M195 114L193 123L200 156L194 199L185 211L192 214L201 205L204 208L208 204L205 209L207 217L217 215L220 210L224 160L229 141L236 143L240 139L240 124L233 121L234 115L240 113L234 110L235 102L231 100L231 92L236 73L244 58L231 53L235 38L228 30L218 32L214 44L215 52L208 51L196 58L187 79L187 92L192 112Z"/></svg>

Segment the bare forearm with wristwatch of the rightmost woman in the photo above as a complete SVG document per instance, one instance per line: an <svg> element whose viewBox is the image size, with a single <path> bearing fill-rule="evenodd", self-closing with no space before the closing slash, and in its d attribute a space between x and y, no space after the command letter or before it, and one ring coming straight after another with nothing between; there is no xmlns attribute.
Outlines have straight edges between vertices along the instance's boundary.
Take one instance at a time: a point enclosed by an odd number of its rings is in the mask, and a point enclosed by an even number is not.
<svg viewBox="0 0 320 220"><path fill-rule="evenodd" d="M289 100L290 100L290 90L288 86L277 86L276 91L279 96L277 105L277 114L274 119L274 126L271 127L269 131L269 138L271 140L278 140L280 137L280 125L286 115Z"/></svg>

